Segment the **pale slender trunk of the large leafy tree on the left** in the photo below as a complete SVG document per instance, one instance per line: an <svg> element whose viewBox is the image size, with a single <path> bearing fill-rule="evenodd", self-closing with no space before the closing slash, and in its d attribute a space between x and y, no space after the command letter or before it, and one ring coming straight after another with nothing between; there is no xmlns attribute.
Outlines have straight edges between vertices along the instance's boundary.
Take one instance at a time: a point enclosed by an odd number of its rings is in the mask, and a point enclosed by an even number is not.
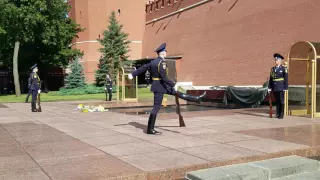
<svg viewBox="0 0 320 180"><path fill-rule="evenodd" d="M19 81L19 71L18 71L18 54L19 54L20 42L16 41L14 45L13 53L13 78L16 96L21 96L20 81Z"/></svg>

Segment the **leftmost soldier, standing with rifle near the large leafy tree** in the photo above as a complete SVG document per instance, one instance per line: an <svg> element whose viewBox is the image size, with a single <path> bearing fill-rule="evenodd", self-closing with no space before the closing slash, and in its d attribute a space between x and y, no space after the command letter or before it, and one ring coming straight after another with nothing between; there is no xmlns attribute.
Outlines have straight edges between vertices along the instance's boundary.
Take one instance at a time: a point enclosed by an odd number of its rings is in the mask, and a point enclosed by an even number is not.
<svg viewBox="0 0 320 180"><path fill-rule="evenodd" d="M38 72L37 64L33 65L30 69L32 71L32 73L30 74L30 82L31 82L30 89L32 92L31 111L37 112L37 109L36 109L37 96L38 96L38 93L41 92L40 78L37 74Z"/></svg>

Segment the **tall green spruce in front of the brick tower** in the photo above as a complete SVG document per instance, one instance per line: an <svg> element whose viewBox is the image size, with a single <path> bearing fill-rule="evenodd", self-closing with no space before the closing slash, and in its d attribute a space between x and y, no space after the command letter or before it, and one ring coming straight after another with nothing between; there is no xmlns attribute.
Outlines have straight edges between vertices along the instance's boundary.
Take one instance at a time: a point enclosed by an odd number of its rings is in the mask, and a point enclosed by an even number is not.
<svg viewBox="0 0 320 180"><path fill-rule="evenodd" d="M105 84L107 72L115 82L117 70L121 66L130 64L127 56L130 51L130 41L128 40L128 34L123 32L122 28L123 25L117 21L115 12L111 12L108 28L103 32L103 38L98 39L103 46L99 49L102 57L99 60L98 70L95 74L98 86Z"/></svg>

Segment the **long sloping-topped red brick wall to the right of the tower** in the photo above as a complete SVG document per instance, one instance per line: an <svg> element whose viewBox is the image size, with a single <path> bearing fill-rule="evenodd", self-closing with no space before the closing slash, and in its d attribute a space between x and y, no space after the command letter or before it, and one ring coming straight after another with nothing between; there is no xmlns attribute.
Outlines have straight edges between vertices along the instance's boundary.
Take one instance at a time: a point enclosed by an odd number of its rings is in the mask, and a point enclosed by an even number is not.
<svg viewBox="0 0 320 180"><path fill-rule="evenodd" d="M146 20L201 0L147 6ZM161 0L158 2L161 4ZM166 2L166 1L165 1ZM171 0L173 2L173 0ZM167 42L168 55L181 54L178 80L194 85L262 85L273 53L287 56L297 41L320 41L319 0L215 0L148 24L143 56Z"/></svg>

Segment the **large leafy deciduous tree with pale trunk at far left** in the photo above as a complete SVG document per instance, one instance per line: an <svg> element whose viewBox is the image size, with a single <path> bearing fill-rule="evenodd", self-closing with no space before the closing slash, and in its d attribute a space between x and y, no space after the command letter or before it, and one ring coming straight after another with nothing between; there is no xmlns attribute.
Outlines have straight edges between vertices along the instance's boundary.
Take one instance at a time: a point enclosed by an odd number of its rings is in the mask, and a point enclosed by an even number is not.
<svg viewBox="0 0 320 180"><path fill-rule="evenodd" d="M0 59L13 69L17 96L18 62L22 70L38 63L41 71L65 67L82 54L69 46L82 29L66 16L70 5L65 0L0 0L0 8Z"/></svg>

